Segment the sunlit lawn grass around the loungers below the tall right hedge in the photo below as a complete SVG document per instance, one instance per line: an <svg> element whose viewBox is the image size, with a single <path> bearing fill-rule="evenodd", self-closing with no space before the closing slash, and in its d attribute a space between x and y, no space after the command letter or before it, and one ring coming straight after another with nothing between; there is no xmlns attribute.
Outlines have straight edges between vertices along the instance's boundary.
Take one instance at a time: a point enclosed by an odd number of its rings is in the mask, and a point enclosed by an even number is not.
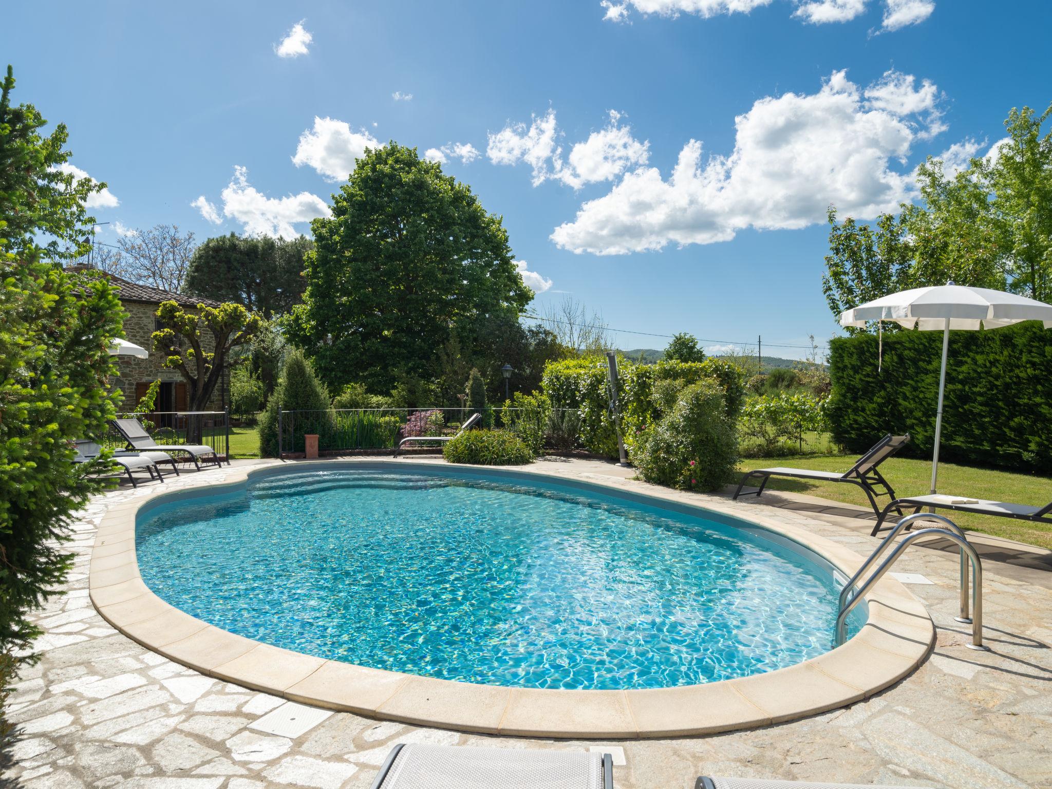
<svg viewBox="0 0 1052 789"><path fill-rule="evenodd" d="M780 458L748 458L739 464L744 472L753 468L790 466L818 471L846 471L855 462L855 456L808 454ZM927 493L931 486L931 461L891 458L881 464L881 473L898 495ZM768 489L789 490L817 495L835 502L869 507L866 494L854 485L834 482L771 478ZM943 493L967 495L972 499L992 499L1016 504L1044 506L1052 501L1052 478L1017 473L1002 469L958 466L954 463L938 464L938 489ZM883 507L887 499L878 500ZM991 518L970 512L937 510L951 518L963 529L982 531L994 537L1016 540L1052 550L1052 526L1014 521L1010 518Z"/></svg>

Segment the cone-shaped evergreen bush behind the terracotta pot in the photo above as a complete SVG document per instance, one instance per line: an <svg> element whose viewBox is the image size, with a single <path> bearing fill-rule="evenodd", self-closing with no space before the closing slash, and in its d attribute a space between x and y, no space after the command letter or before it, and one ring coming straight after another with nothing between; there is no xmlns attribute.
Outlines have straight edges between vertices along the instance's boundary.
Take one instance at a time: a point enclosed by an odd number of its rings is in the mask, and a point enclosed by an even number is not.
<svg viewBox="0 0 1052 789"><path fill-rule="evenodd" d="M260 414L260 449L264 458L278 457L279 406L283 411L296 411L282 417L283 451L302 452L306 433L318 433L318 445L324 447L336 432L328 392L301 350L288 352L278 386Z"/></svg>

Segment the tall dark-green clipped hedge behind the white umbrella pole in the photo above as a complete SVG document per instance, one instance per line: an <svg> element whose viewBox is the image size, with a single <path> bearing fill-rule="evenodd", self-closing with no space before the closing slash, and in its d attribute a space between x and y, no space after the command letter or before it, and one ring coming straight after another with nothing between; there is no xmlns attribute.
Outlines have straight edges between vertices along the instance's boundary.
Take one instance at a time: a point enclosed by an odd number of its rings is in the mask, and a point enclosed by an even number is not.
<svg viewBox="0 0 1052 789"><path fill-rule="evenodd" d="M833 438L855 452L909 432L913 457L931 457L940 331L861 335L830 343ZM1024 323L951 331L939 458L1052 471L1052 330Z"/></svg>

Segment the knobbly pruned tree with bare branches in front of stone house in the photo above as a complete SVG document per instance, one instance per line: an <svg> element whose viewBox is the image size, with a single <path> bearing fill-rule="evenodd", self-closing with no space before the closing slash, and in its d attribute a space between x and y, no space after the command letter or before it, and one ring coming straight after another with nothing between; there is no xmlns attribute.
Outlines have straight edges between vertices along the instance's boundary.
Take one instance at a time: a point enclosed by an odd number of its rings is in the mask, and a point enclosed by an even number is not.
<svg viewBox="0 0 1052 789"><path fill-rule="evenodd" d="M157 317L163 328L154 332L154 349L164 353L165 367L182 373L189 410L205 410L230 350L259 330L261 319L229 302L218 307L198 304L197 311L189 311L174 301L165 301L158 307ZM210 351L202 343L205 331L211 336ZM190 420L189 425L191 434L187 439L200 442L200 421Z"/></svg>

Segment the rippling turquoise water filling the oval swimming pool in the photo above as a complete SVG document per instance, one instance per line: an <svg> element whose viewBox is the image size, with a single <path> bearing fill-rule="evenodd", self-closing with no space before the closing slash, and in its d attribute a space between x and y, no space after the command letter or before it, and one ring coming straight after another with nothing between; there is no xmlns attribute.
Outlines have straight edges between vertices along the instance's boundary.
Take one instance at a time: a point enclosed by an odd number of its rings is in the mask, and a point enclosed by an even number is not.
<svg viewBox="0 0 1052 789"><path fill-rule="evenodd" d="M836 614L828 566L733 526L445 470L271 474L145 510L136 546L146 584L217 627L488 685L770 671L830 649Z"/></svg>

